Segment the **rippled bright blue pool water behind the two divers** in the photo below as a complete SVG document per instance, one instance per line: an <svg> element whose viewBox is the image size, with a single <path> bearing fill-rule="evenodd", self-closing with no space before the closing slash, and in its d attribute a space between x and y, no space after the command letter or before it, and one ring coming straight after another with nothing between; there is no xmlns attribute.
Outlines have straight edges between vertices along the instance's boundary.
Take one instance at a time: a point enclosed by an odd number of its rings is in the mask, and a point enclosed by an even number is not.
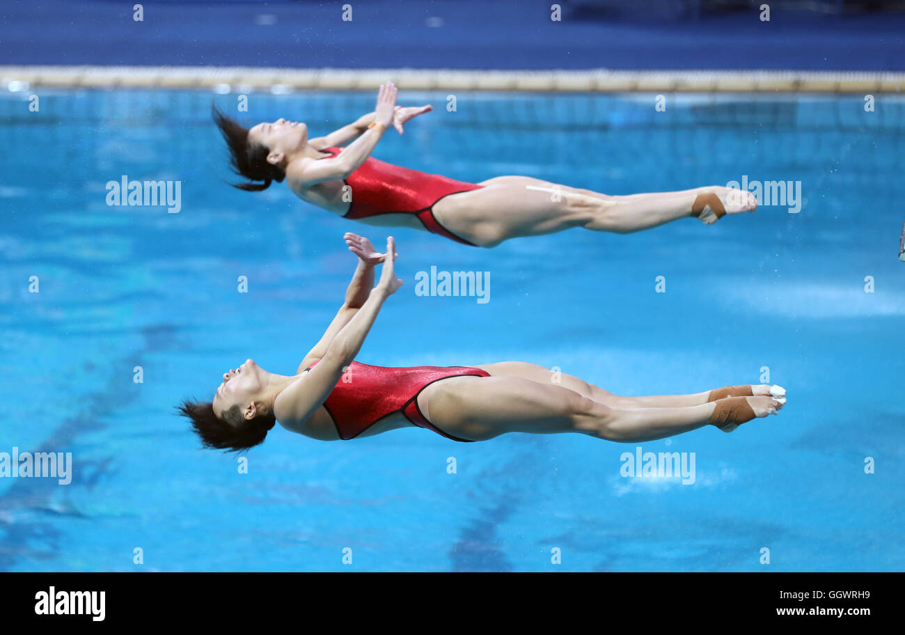
<svg viewBox="0 0 905 635"><path fill-rule="evenodd" d="M905 102L878 96L865 112L861 96L671 96L657 112L653 95L462 94L455 110L445 92L401 99L434 105L376 148L404 166L610 194L800 181L802 204L492 251L393 230L406 284L359 361L518 359L625 394L768 372L788 389L781 416L641 444L693 452L687 485L621 476L635 444L460 444L414 427L330 443L278 426L239 473L233 455L199 448L174 405L209 396L249 356L294 371L354 269L342 233L386 231L283 186L224 185L209 109L234 110L235 94L43 90L31 112L29 91L5 93L0 452L71 452L73 471L68 486L0 479L0 569L903 568ZM243 118L302 119L317 135L372 106L369 93L251 93ZM181 211L109 206L105 184L121 175L181 181ZM415 273L432 265L490 271L491 301L415 296Z"/></svg>

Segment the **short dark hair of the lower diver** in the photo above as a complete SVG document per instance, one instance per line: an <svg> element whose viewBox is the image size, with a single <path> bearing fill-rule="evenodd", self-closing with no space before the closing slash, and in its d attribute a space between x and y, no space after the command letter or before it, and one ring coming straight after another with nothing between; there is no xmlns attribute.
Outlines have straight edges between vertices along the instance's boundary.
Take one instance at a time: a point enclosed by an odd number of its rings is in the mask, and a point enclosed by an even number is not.
<svg viewBox="0 0 905 635"><path fill-rule="evenodd" d="M249 450L259 445L277 422L273 412L262 412L253 419L245 419L238 403L225 411L222 419L214 414L211 402L185 399L176 410L192 422L192 429L201 437L205 448L227 452Z"/></svg>

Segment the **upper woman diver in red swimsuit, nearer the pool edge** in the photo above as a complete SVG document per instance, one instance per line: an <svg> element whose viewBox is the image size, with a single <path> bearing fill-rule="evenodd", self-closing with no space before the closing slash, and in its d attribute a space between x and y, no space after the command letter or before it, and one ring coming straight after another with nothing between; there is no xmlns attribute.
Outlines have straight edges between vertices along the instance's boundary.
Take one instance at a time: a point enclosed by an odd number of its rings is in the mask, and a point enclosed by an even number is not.
<svg viewBox="0 0 905 635"><path fill-rule="evenodd" d="M431 110L403 108L395 100L396 88L388 82L380 87L374 112L311 139L304 123L284 118L244 128L214 109L214 121L233 170L250 181L235 187L259 192L285 179L300 199L343 218L420 229L476 247L572 227L630 233L680 218L711 224L757 208L753 194L721 185L609 195L529 176L472 184L395 166L371 156L384 132L394 127L402 134L406 121Z"/></svg>

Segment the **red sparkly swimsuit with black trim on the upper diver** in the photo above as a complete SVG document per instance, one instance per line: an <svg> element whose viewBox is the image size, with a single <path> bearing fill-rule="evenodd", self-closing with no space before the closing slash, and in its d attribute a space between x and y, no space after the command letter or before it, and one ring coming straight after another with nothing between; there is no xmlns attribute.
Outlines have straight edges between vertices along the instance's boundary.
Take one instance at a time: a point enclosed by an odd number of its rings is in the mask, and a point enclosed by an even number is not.
<svg viewBox="0 0 905 635"><path fill-rule="evenodd" d="M332 158L342 150L341 147L326 147L323 151ZM428 232L475 246L443 227L433 216L433 205L444 196L480 190L483 185L463 183L441 175L429 175L394 166L371 156L348 175L346 185L352 188L352 204L344 218L367 218L381 213L411 213L418 217Z"/></svg>

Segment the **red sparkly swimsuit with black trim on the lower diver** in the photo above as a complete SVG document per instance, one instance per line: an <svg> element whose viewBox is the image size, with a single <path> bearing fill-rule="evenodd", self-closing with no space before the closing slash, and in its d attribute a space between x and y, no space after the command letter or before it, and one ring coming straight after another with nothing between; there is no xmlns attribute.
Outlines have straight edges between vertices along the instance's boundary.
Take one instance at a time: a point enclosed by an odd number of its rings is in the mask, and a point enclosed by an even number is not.
<svg viewBox="0 0 905 635"><path fill-rule="evenodd" d="M313 367L317 362L310 365ZM428 385L447 377L489 377L490 373L468 366L414 366L411 368L385 368L352 362L339 378L324 408L337 427L339 438L355 439L381 419L402 412L405 418L419 428L433 430L452 441L470 442L427 421L418 408L418 395Z"/></svg>

